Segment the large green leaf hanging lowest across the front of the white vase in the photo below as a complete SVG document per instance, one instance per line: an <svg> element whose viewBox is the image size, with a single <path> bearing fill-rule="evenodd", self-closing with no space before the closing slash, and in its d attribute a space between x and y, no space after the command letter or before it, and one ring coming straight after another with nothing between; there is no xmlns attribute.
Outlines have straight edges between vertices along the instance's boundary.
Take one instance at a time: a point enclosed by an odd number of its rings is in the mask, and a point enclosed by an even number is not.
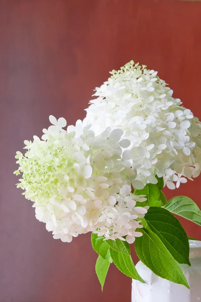
<svg viewBox="0 0 201 302"><path fill-rule="evenodd" d="M136 238L135 241L139 259L157 276L189 288L179 264L160 238L150 230L140 229L140 232L143 236Z"/></svg>

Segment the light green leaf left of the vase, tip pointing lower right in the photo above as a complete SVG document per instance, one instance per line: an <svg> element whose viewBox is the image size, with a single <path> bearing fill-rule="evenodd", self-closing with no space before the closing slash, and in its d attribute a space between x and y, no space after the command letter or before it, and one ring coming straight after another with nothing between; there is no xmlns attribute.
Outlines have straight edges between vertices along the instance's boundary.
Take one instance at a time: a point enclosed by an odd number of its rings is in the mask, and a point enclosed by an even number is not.
<svg viewBox="0 0 201 302"><path fill-rule="evenodd" d="M132 279L139 280L140 282L145 283L145 281L138 274L131 258L131 255L128 256L123 253L119 253L113 250L112 248L110 248L110 254L113 259L113 262L123 274L127 275Z"/></svg>

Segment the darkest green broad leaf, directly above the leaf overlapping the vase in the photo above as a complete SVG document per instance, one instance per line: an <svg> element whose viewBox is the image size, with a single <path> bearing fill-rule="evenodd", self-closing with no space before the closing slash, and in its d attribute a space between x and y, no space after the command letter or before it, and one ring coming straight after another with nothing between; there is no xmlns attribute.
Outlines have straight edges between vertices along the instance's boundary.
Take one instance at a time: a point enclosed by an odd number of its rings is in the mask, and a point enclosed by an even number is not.
<svg viewBox="0 0 201 302"><path fill-rule="evenodd" d="M179 220L161 207L150 207L144 219L174 259L190 265L188 238Z"/></svg>

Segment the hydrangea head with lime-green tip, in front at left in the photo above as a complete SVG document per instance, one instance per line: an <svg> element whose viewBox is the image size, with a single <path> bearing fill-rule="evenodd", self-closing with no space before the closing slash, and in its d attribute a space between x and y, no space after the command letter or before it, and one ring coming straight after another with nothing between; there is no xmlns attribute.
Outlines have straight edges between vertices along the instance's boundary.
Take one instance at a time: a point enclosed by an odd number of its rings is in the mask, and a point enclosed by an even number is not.
<svg viewBox="0 0 201 302"><path fill-rule="evenodd" d="M50 116L53 124L43 129L40 139L25 140L25 156L17 152L23 173L18 187L34 202L36 218L46 223L55 239L71 242L72 237L95 232L107 239L133 243L142 228L140 220L148 207L136 206L146 200L131 194L143 184L131 167L128 139L123 131L105 129L95 136L90 125L78 120L68 126L64 118Z"/></svg>

